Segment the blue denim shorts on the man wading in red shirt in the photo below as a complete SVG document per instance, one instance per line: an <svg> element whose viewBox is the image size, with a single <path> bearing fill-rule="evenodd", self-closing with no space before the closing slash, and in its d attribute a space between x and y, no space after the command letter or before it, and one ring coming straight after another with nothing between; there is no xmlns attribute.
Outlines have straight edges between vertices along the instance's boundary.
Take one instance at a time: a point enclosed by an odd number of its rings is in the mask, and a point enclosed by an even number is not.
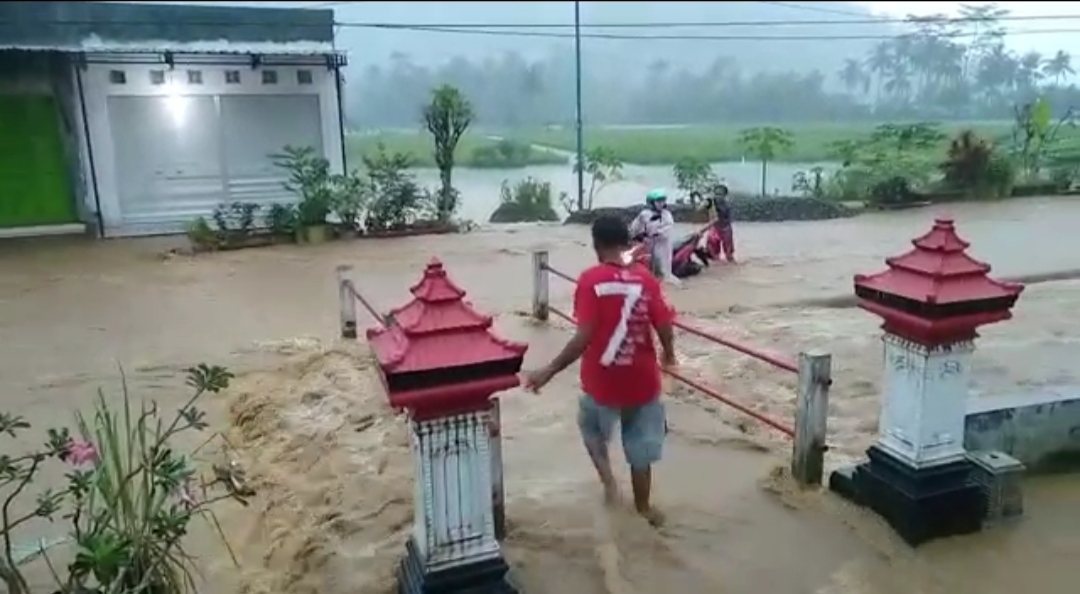
<svg viewBox="0 0 1080 594"><path fill-rule="evenodd" d="M589 394L582 394L578 400L578 428L585 447L607 445L617 423L622 433L622 451L630 468L644 470L660 461L667 423L664 405L659 397L624 408L597 404Z"/></svg>

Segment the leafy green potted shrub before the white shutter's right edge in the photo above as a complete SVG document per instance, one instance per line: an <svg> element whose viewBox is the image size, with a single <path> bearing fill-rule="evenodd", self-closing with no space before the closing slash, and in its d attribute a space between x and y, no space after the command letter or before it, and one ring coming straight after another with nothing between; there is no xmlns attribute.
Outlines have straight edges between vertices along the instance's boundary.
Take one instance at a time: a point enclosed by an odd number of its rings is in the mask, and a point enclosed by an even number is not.
<svg viewBox="0 0 1080 594"><path fill-rule="evenodd" d="M281 153L271 157L276 166L288 172L285 189L300 198L297 240L325 242L326 216L330 213L333 194L329 161L312 147L286 146Z"/></svg>

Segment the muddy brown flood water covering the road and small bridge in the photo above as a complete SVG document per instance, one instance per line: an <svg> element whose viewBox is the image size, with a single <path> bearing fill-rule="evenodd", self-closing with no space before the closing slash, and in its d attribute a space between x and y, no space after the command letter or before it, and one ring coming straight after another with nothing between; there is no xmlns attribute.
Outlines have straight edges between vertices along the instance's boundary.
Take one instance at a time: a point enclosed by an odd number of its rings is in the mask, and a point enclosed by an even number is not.
<svg viewBox="0 0 1080 594"><path fill-rule="evenodd" d="M742 264L716 267L671 293L685 319L794 355L833 354L833 467L856 459L876 431L878 321L842 307L851 276L883 267L939 211L823 222L740 225ZM949 214L995 274L1080 269L1080 201L960 205ZM334 268L352 265L381 308L404 302L437 255L498 332L552 356L568 326L525 315L529 253L576 273L588 230L482 229L456 237L162 256L176 239L0 243L2 408L41 427L66 422L98 388L177 405L183 369L207 362L238 378L213 406L217 428L259 495L219 516L241 567L194 535L205 591L384 594L411 521L403 420L388 410L363 345L336 339ZM552 281L555 305L570 287ZM1031 284L1012 321L978 341L972 393L1080 386L1080 281ZM362 320L362 324L366 321ZM795 377L680 336L684 372L781 419ZM789 444L768 428L685 389L667 395L672 434L658 473L669 522L603 512L573 423L576 373L540 395L503 395L503 451L517 581L532 594L1065 594L1080 555L1080 481L1031 478L1026 516L983 534L903 545L876 517L826 492L799 492L782 472ZM27 443L35 443L37 440ZM6 446L6 443L5 443ZM37 538L62 526L35 526ZM36 568L35 581L46 572Z"/></svg>

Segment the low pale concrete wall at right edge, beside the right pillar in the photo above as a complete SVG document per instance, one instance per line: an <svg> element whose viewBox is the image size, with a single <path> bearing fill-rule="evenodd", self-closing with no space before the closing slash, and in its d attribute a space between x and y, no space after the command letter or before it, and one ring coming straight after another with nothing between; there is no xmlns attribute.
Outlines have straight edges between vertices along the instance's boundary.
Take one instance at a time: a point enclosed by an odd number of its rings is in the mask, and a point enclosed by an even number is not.
<svg viewBox="0 0 1080 594"><path fill-rule="evenodd" d="M1080 469L1080 389L1044 390L968 403L968 450L1004 451L1029 472Z"/></svg>

